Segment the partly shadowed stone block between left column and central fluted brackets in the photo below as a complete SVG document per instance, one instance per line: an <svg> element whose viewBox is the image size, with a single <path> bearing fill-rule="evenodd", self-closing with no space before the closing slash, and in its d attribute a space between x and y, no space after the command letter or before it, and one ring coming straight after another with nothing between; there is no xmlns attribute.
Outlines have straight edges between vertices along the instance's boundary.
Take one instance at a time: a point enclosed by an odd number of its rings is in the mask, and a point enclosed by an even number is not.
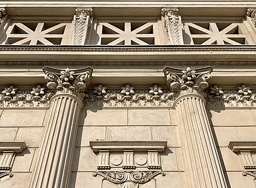
<svg viewBox="0 0 256 188"><path fill-rule="evenodd" d="M95 171L99 164L98 160L99 157L92 152L90 147L77 147L75 148L72 172Z"/></svg>

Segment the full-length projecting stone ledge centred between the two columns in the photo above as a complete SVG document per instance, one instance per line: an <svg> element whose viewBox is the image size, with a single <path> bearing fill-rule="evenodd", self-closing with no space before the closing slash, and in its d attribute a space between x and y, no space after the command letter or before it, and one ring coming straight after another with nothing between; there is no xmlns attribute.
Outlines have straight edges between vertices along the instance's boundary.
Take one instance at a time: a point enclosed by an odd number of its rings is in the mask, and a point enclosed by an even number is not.
<svg viewBox="0 0 256 188"><path fill-rule="evenodd" d="M147 151L157 150L158 152L164 152L167 148L167 141L155 140L155 141L108 141L108 140L96 140L90 141L90 147L93 152L99 152L99 150L109 150L110 152L118 152L126 149L134 151Z"/></svg>

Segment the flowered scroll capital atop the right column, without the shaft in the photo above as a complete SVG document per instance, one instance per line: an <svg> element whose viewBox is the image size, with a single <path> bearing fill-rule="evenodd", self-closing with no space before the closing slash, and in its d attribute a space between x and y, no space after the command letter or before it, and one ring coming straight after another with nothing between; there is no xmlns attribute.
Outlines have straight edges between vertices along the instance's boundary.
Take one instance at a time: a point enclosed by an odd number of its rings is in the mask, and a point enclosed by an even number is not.
<svg viewBox="0 0 256 188"><path fill-rule="evenodd" d="M164 69L167 85L174 97L179 97L188 93L196 93L205 96L204 89L208 88L208 81L211 78L211 67L186 70L166 67Z"/></svg>

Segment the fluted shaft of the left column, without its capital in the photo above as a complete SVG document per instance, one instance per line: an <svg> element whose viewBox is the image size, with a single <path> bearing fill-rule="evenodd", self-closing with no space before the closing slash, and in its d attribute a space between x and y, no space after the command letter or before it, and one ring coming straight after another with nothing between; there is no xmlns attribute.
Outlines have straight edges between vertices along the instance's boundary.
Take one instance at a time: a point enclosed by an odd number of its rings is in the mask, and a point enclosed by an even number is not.
<svg viewBox="0 0 256 188"><path fill-rule="evenodd" d="M52 98L30 187L68 187L81 108L74 95L60 93Z"/></svg>

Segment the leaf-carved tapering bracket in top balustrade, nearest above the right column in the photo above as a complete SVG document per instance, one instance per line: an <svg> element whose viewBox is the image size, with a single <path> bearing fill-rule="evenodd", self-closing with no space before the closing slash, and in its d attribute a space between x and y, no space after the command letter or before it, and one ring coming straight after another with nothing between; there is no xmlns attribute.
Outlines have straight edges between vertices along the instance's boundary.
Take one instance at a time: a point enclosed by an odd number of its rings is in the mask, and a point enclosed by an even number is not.
<svg viewBox="0 0 256 188"><path fill-rule="evenodd" d="M169 40L174 45L183 44L181 16L178 12L177 8L163 8L161 13L164 16L164 26Z"/></svg>

